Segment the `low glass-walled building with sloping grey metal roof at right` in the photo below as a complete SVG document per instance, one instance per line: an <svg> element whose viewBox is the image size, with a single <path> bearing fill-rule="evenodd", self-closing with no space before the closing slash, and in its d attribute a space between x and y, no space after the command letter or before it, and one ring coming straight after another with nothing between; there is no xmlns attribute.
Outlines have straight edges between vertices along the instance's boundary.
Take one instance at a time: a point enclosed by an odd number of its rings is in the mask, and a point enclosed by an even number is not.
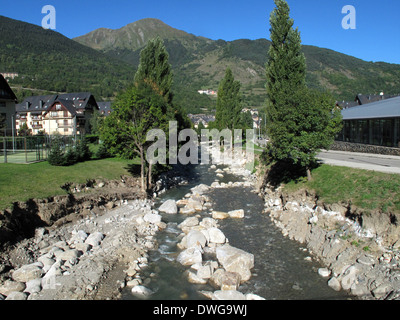
<svg viewBox="0 0 400 320"><path fill-rule="evenodd" d="M400 148L400 97L342 110L338 141Z"/></svg>

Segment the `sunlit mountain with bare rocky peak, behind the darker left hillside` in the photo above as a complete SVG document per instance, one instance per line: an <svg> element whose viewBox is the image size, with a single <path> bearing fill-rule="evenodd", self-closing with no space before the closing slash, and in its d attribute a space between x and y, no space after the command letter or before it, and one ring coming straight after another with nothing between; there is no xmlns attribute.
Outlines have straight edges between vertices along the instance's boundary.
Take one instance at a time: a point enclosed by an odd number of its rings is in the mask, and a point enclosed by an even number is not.
<svg viewBox="0 0 400 320"><path fill-rule="evenodd" d="M260 107L265 101L265 63L270 41L210 40L174 29L157 19L143 19L118 30L98 29L75 38L113 58L138 65L146 42L160 36L170 54L179 91L214 89L230 67L242 83L244 102ZM358 93L400 92L400 65L366 62L333 50L303 46L307 60L307 84L331 91L338 100ZM184 88L184 89L183 89Z"/></svg>

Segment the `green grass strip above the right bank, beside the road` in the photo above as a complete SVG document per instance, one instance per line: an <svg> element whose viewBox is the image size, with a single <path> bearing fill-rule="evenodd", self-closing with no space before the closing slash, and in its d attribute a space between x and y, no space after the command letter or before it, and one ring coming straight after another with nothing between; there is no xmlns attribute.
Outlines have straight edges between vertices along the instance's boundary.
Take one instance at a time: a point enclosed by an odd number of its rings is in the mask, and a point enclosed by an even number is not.
<svg viewBox="0 0 400 320"><path fill-rule="evenodd" d="M296 191L313 189L326 203L351 201L367 211L400 213L400 175L368 170L321 165L312 171L313 181L301 179L285 188Z"/></svg>

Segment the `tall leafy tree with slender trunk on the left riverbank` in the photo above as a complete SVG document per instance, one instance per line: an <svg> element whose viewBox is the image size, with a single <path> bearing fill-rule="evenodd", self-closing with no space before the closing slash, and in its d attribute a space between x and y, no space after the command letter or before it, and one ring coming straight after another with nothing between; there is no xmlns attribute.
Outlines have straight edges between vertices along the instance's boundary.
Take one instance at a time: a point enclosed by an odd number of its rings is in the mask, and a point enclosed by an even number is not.
<svg viewBox="0 0 400 320"><path fill-rule="evenodd" d="M167 132L168 121L176 119L168 57L159 38L148 42L140 54L134 85L119 94L101 130L111 152L130 159L140 157L142 191L151 188L152 177L152 164L145 161L151 144L147 133L151 129Z"/></svg>

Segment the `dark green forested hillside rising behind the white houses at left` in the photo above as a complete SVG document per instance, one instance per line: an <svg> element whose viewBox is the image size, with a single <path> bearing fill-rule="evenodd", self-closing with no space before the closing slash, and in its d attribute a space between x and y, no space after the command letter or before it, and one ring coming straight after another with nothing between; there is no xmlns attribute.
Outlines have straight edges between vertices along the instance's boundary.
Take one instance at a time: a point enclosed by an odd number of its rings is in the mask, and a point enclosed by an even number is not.
<svg viewBox="0 0 400 320"><path fill-rule="evenodd" d="M100 101L133 81L132 64L52 30L0 16L0 34L0 72L19 74L10 80L19 100L46 92L90 91Z"/></svg>

